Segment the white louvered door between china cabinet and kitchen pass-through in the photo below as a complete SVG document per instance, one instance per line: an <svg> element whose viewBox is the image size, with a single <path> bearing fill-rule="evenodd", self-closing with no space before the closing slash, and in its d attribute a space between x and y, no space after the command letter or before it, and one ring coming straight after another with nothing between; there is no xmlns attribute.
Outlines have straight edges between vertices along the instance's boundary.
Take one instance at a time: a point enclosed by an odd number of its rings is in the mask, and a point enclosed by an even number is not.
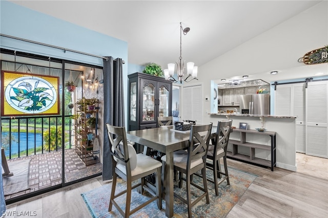
<svg viewBox="0 0 328 218"><path fill-rule="evenodd" d="M201 85L183 87L183 120L196 120L202 124Z"/></svg>

